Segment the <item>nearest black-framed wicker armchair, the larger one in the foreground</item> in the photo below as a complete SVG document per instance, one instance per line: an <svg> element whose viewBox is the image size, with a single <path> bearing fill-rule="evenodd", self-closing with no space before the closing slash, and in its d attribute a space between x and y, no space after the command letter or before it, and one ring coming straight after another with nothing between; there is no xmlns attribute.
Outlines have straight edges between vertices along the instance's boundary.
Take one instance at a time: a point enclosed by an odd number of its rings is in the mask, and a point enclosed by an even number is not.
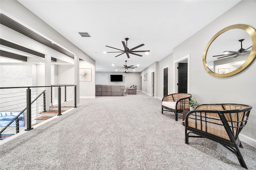
<svg viewBox="0 0 256 170"><path fill-rule="evenodd" d="M240 165L248 169L239 150L242 144L238 135L246 125L251 109L252 106L243 104L203 104L196 107L186 115L185 143L188 144L189 137L216 141L236 154Z"/></svg>

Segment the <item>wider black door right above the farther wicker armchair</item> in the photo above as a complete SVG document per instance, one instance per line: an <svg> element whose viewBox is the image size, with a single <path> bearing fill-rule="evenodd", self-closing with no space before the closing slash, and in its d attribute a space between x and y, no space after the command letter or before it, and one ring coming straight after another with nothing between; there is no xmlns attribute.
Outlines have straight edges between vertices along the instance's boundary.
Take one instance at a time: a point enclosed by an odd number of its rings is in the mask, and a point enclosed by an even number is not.
<svg viewBox="0 0 256 170"><path fill-rule="evenodd" d="M178 93L188 92L188 63L179 63L178 66Z"/></svg>

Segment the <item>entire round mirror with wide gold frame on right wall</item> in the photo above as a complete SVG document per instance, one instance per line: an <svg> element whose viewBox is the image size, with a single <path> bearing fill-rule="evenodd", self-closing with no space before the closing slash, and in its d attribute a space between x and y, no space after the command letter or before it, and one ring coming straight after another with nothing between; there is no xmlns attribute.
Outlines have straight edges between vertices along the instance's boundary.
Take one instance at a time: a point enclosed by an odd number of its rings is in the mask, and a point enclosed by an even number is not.
<svg viewBox="0 0 256 170"><path fill-rule="evenodd" d="M255 58L256 30L249 25L236 24L220 30L210 39L204 50L203 64L210 75L229 77L246 69Z"/></svg>

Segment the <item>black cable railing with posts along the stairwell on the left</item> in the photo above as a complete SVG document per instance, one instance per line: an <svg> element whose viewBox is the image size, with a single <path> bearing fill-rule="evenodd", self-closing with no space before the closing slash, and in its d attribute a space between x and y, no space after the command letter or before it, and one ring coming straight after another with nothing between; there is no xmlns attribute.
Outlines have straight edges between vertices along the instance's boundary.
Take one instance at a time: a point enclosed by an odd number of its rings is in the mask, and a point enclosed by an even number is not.
<svg viewBox="0 0 256 170"><path fill-rule="evenodd" d="M1 87L0 140L62 115L62 107L76 107L76 85Z"/></svg>

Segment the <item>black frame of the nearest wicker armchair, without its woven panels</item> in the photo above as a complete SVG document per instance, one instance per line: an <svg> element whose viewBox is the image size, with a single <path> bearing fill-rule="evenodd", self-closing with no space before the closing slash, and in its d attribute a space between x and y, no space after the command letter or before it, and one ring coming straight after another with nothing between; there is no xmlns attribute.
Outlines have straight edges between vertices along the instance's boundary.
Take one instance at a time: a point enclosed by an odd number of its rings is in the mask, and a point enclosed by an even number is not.
<svg viewBox="0 0 256 170"><path fill-rule="evenodd" d="M207 105L209 104L204 104L200 106L207 106ZM243 104L210 104L210 105L221 105L224 110L201 110L201 109L197 109L198 107L200 107L198 106L196 110L188 112L185 119L185 143L188 144L189 137L202 137L202 138L207 138L212 141L218 142L237 156L240 162L240 165L243 168L248 169L246 166L246 163L244 162L244 158L239 150L239 147L243 148L243 146L238 138L238 135L248 121L248 116L249 116L250 110L252 109L252 106L243 105ZM225 107L224 107L225 105L246 106L246 108L225 110ZM218 115L219 118L207 116L206 113L216 114ZM232 117L234 117L234 115L236 115L237 117L236 120L232 120ZM240 115L242 119L238 119L238 115ZM230 120L227 119L227 117L230 117ZM212 121L209 121L211 119L215 121L218 120L221 123L212 123ZM195 122L194 123L195 128L188 126L189 123L187 122L191 120ZM211 133L207 133L207 127L211 123L215 124L217 127L224 126L230 140L213 135ZM202 129L202 127L204 126L205 126L205 129ZM190 133L194 133L198 136L190 135Z"/></svg>

